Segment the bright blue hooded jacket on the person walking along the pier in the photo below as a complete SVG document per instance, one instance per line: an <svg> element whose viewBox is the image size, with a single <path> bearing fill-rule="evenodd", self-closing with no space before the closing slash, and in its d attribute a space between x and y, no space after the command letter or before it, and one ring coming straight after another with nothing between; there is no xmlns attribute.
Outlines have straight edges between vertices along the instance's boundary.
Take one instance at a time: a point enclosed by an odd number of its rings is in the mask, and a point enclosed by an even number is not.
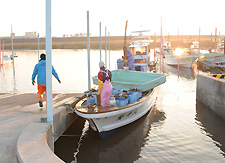
<svg viewBox="0 0 225 163"><path fill-rule="evenodd" d="M52 74L57 80L59 80L58 74L56 73L54 67L52 66ZM38 64L35 65L34 71L32 74L32 81L35 80L37 76L37 83L39 85L46 85L46 60L41 60Z"/></svg>

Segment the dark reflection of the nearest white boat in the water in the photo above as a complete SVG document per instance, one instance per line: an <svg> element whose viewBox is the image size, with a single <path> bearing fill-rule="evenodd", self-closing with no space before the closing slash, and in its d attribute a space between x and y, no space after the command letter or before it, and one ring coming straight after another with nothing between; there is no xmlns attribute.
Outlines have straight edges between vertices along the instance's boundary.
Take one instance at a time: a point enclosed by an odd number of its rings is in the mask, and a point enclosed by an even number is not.
<svg viewBox="0 0 225 163"><path fill-rule="evenodd" d="M96 132L89 130L77 155L78 162L112 162L113 160L113 162L127 163L138 160L141 147L144 146L145 138L151 128L152 117L151 111L104 140L96 138L93 136Z"/></svg>

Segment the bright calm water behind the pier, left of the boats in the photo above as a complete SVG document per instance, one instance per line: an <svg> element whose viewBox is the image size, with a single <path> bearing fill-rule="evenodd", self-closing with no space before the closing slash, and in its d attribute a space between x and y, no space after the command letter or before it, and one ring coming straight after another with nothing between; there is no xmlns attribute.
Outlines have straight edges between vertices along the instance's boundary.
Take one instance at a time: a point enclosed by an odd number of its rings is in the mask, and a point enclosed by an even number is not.
<svg viewBox="0 0 225 163"><path fill-rule="evenodd" d="M40 51L40 54L44 51ZM102 51L102 60L105 55ZM10 51L5 51L10 55ZM31 84L31 75L38 62L38 52L32 50L16 51L15 78L12 65L0 67L0 92L36 92ZM110 68L123 55L122 51L110 51ZM97 75L100 60L99 51L91 51L91 76ZM108 63L109 63L109 57ZM53 92L84 92L88 89L87 50L52 50L52 65L61 79L61 84L52 77ZM109 64L108 64L109 66Z"/></svg>

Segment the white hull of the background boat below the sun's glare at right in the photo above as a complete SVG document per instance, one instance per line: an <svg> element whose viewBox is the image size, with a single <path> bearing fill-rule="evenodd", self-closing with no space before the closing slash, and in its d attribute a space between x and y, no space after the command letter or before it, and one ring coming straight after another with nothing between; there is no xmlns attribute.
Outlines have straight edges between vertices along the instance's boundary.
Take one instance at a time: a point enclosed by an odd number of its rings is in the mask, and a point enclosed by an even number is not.
<svg viewBox="0 0 225 163"><path fill-rule="evenodd" d="M190 68L196 59L197 59L196 56L179 57L179 66ZM178 65L178 57L165 58L165 63L170 66L177 66Z"/></svg>

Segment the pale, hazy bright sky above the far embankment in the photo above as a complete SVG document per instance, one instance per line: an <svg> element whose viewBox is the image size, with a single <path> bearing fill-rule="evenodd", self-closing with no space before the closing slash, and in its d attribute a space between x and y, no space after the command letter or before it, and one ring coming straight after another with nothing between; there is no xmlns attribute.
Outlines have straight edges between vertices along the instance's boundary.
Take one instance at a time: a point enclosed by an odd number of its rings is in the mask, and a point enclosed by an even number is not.
<svg viewBox="0 0 225 163"><path fill-rule="evenodd" d="M0 0L0 37L10 36L11 25L16 36L37 32L45 37L46 0ZM52 36L87 33L87 11L90 33L102 36L105 27L110 36L124 36L132 31L150 30L160 35L225 33L225 0L52 0ZM218 33L217 33L218 34Z"/></svg>

